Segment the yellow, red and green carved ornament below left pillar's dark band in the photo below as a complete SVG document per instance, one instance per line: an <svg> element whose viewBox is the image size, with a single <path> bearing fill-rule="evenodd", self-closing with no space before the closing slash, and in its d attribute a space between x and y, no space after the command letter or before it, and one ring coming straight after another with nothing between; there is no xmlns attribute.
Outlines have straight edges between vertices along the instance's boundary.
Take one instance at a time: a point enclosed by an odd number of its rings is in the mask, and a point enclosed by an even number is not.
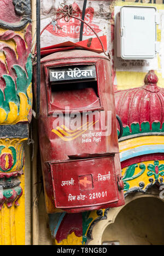
<svg viewBox="0 0 164 256"><path fill-rule="evenodd" d="M0 210L4 203L11 207L22 195L20 181L16 177L24 174L24 140L1 139L0 143Z"/></svg>

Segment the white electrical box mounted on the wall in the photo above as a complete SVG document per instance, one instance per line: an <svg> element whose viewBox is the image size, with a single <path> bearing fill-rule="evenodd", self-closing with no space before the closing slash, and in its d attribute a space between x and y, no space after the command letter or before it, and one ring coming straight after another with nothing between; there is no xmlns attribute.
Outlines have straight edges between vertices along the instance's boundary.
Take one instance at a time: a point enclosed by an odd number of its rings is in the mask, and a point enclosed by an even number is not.
<svg viewBox="0 0 164 256"><path fill-rule="evenodd" d="M153 59L159 52L155 7L123 6L116 14L116 56L122 59Z"/></svg>

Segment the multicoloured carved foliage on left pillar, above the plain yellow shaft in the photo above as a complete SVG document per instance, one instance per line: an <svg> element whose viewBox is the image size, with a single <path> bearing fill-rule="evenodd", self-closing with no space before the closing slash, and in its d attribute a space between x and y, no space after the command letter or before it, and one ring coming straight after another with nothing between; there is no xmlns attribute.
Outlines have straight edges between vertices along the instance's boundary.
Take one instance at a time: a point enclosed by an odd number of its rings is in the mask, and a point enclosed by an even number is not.
<svg viewBox="0 0 164 256"><path fill-rule="evenodd" d="M24 28L29 22L30 1L13 1L16 15L22 15L20 23ZM28 22L27 22L28 21ZM20 24L19 23L19 24ZM22 25L21 25L22 26ZM4 30L4 28L9 30ZM15 32L13 30L19 30ZM22 151L28 138L26 123L32 117L32 61L31 61L31 25L20 31L15 25L0 20L0 184L2 184L4 202L11 207L22 194L20 181L14 177L23 174ZM8 126L4 126L8 124ZM17 126L14 126L17 124ZM8 138L9 139L3 139ZM14 146L13 146L14 144ZM10 179L10 181L8 180ZM8 186L6 185L8 184ZM8 189L6 188L8 187ZM9 202L9 203L8 203Z"/></svg>

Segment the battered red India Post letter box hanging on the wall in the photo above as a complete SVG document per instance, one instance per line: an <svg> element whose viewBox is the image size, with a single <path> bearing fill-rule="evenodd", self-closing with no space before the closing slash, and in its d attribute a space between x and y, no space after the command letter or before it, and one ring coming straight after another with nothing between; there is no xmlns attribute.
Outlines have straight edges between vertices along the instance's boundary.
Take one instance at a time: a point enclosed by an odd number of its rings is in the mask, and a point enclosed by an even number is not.
<svg viewBox="0 0 164 256"><path fill-rule="evenodd" d="M40 75L38 129L47 212L121 206L109 59L88 50L57 52L41 59Z"/></svg>

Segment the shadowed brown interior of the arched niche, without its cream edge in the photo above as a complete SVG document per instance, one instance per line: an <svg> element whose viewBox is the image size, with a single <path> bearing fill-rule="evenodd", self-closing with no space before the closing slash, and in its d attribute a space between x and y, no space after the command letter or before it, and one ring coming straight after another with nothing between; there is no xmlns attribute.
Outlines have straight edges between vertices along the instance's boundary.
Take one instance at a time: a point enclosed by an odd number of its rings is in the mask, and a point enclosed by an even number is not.
<svg viewBox="0 0 164 256"><path fill-rule="evenodd" d="M113 224L106 227L102 244L164 244L164 203L158 198L138 198L119 212Z"/></svg>

